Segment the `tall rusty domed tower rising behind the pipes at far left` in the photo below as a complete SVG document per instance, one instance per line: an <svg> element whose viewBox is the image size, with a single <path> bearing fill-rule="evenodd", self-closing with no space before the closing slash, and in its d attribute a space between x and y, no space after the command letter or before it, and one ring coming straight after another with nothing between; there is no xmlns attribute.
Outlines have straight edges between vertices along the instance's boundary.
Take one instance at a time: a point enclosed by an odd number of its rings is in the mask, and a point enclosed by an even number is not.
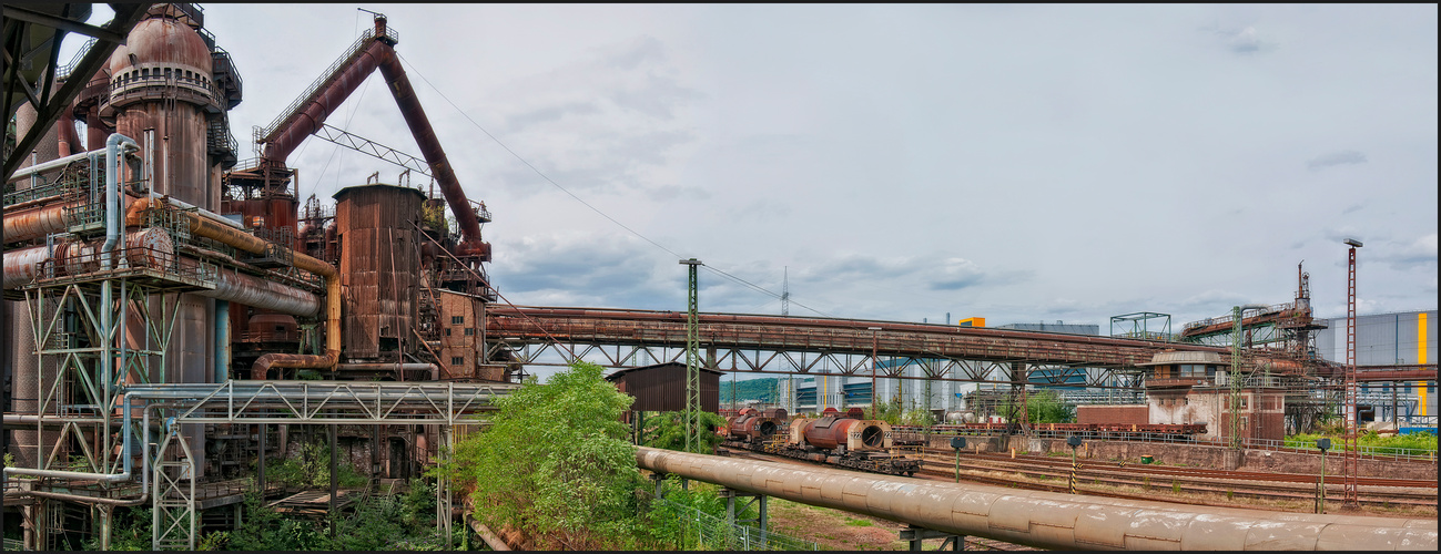
<svg viewBox="0 0 1441 554"><path fill-rule="evenodd" d="M220 183L210 171L209 118L222 114L215 94L210 47L179 7L154 4L131 29L125 45L110 56L110 94L99 99L99 118L112 121L115 132L134 138L141 151L154 153L150 187L176 200L206 210L220 207ZM101 72L104 73L104 72ZM156 144L147 145L153 130ZM163 312L159 299L151 312ZM180 295L176 306L167 383L209 383L215 378L215 301L196 294ZM130 340L143 341L143 327ZM157 367L151 378L159 378ZM203 424L184 424L182 435L205 471ZM200 475L196 475L197 478Z"/></svg>

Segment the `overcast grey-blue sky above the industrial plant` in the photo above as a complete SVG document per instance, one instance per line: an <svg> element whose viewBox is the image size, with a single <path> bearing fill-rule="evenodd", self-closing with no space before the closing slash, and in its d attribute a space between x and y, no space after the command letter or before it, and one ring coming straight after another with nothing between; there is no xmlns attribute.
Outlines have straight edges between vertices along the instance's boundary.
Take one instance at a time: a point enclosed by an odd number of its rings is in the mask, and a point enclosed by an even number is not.
<svg viewBox="0 0 1441 554"><path fill-rule="evenodd" d="M1179 331L1291 301L1303 259L1344 315L1355 237L1362 314L1437 308L1434 4L208 4L242 158L356 7L514 304L684 309L695 256L775 294L788 268L791 315ZM419 155L379 72L327 122ZM399 173L318 138L290 163L327 201ZM781 301L702 271L700 309Z"/></svg>

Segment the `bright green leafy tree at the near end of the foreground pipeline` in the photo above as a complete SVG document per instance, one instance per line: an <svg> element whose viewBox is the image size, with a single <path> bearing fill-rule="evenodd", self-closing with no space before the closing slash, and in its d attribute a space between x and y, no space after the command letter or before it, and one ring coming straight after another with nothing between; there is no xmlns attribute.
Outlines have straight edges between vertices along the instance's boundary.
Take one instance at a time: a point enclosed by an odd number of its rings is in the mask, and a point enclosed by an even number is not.
<svg viewBox="0 0 1441 554"><path fill-rule="evenodd" d="M633 401L575 363L496 400L490 427L461 440L437 473L470 491L474 518L546 550L624 547L637 531L635 448L620 417Z"/></svg>

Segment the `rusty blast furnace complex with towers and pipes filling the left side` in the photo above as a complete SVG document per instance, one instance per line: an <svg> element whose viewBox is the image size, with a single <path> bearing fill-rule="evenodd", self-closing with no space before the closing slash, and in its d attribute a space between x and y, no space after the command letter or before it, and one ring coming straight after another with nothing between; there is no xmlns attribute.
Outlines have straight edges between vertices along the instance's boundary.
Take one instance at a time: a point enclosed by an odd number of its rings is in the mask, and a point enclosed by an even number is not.
<svg viewBox="0 0 1441 554"><path fill-rule="evenodd" d="M258 462L265 491L265 460L287 456L291 426L373 426L370 471L411 476L405 468L445 452L450 426L483 423L454 417L488 409L476 394L506 393L519 371L504 354L474 354L486 350L483 314L494 299L481 266L490 245L480 223L490 214L450 170L383 16L262 138L267 155L239 164L226 112L242 99L242 79L205 30L203 10L128 6L107 27L65 23L124 29L102 35L69 71L53 60L61 33L26 50L27 59L50 52L40 76L73 95L49 114L50 85L27 94L16 128L24 154L6 155L4 309L16 327L4 357L16 386L4 424L17 463L6 468L4 494L35 550L76 547L66 538L75 531L108 548L114 508L130 505L153 509L154 548L193 550L199 512L239 501L223 491L246 478L246 460ZM69 4L59 16L82 12ZM10 16L7 4L7 29ZM9 83L39 75L7 68ZM298 210L298 171L285 155L375 69L442 197L376 180L343 190L333 212ZM324 381L291 384L307 371ZM357 404L365 414L334 417L352 409L337 400L365 389L346 380L376 378L424 383L382 384ZM219 397L248 409L205 416ZM416 403L460 412L418 419ZM154 420L167 423L144 423ZM267 445L274 432L278 450ZM440 485L438 525L448 531L450 491ZM82 528L55 525L86 508L95 517Z"/></svg>

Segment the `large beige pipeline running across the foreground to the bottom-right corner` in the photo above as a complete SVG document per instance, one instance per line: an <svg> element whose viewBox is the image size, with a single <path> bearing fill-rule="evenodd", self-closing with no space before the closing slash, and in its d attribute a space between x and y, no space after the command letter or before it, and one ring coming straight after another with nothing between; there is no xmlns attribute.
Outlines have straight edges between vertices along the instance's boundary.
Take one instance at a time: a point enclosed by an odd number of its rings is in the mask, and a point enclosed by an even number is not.
<svg viewBox="0 0 1441 554"><path fill-rule="evenodd" d="M1200 508L886 478L641 446L643 469L915 527L1058 550L1424 550L1435 519Z"/></svg>

